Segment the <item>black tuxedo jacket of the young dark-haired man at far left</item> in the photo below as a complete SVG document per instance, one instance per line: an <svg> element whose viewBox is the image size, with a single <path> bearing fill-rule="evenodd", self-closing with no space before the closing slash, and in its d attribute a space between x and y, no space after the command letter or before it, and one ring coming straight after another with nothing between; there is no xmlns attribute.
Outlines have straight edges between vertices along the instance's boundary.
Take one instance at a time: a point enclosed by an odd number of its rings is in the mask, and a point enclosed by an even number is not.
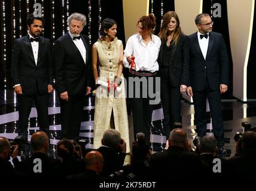
<svg viewBox="0 0 256 191"><path fill-rule="evenodd" d="M53 60L50 40L39 37L38 61L35 64L29 35L16 39L11 55L13 85L22 86L23 95L31 96L37 88L39 94L48 93L53 84Z"/></svg>

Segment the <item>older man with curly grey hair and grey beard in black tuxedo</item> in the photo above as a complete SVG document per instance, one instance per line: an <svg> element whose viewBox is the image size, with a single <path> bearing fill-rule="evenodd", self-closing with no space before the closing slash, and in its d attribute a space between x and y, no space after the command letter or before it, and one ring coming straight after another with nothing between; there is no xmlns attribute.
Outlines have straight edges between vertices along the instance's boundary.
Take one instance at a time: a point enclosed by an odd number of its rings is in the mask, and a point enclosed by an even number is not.
<svg viewBox="0 0 256 191"><path fill-rule="evenodd" d="M53 48L57 93L60 99L62 136L78 140L84 96L91 92L91 53L89 38L80 35L86 16L68 17L69 32L56 40Z"/></svg>

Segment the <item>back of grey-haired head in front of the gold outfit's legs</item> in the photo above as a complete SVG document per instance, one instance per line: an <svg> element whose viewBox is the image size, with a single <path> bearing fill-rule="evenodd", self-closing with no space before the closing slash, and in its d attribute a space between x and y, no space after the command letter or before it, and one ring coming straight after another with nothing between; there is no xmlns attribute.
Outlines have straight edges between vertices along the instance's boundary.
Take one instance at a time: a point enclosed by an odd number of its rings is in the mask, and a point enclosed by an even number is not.
<svg viewBox="0 0 256 191"><path fill-rule="evenodd" d="M116 149L121 140L121 135L117 130L109 129L103 134L102 141L105 146Z"/></svg>

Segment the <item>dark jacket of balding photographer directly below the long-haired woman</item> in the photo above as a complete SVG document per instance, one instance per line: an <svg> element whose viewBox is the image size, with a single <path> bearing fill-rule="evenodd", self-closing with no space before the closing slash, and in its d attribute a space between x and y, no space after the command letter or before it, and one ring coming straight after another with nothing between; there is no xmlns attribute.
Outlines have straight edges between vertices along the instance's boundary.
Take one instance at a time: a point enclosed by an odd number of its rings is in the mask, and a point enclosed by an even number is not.
<svg viewBox="0 0 256 191"><path fill-rule="evenodd" d="M179 146L169 146L151 156L152 175L156 178L191 178L202 172L200 156Z"/></svg>

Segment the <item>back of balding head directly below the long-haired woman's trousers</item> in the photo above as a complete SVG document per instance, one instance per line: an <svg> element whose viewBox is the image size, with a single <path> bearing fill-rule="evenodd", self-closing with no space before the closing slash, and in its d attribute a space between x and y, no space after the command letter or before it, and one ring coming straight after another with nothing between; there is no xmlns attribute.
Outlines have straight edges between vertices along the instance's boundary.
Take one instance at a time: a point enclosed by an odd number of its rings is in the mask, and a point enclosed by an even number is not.
<svg viewBox="0 0 256 191"><path fill-rule="evenodd" d="M185 147L187 144L187 140L187 133L180 128L176 128L170 132L170 146Z"/></svg>

